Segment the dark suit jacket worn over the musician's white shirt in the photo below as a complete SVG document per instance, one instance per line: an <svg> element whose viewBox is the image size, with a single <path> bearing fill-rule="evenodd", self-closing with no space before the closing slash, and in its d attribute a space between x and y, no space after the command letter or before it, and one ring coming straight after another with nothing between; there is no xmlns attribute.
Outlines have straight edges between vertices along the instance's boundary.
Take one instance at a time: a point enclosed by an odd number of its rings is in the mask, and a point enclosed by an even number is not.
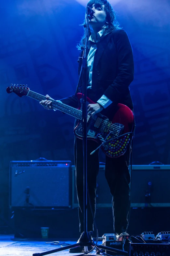
<svg viewBox="0 0 170 256"><path fill-rule="evenodd" d="M82 56L82 51L80 56ZM80 67L81 61L78 73ZM133 109L129 91L129 85L133 79L133 51L127 33L123 29L115 29L106 36L102 35L94 55L92 90L87 90L87 95L97 102L105 94L113 102L104 110L105 112L112 111L118 103ZM79 92L81 92L81 81ZM78 100L74 95L61 99L61 101L74 108L78 107Z"/></svg>

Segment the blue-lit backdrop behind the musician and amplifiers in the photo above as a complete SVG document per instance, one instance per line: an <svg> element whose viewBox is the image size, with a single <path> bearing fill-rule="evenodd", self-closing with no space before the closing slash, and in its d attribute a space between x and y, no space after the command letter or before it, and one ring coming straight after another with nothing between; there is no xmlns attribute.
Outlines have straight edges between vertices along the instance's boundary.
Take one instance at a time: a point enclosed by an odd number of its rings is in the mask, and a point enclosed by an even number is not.
<svg viewBox="0 0 170 256"><path fill-rule="evenodd" d="M170 7L168 0L111 1L130 38L135 79L133 164L170 164ZM8 205L9 162L73 161L74 119L7 94L11 83L54 99L74 94L85 1L7 0L0 5L0 208ZM101 161L104 156L101 154Z"/></svg>

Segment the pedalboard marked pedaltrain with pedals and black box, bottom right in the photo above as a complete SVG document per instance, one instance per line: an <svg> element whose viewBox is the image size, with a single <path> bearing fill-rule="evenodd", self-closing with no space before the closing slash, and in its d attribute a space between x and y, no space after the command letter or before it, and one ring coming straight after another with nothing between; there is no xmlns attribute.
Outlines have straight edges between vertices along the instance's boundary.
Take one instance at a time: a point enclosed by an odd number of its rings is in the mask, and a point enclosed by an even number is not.
<svg viewBox="0 0 170 256"><path fill-rule="evenodd" d="M150 231L141 235L122 233L120 237L122 241L119 241L118 235L104 234L102 245L128 252L128 256L170 256L170 231L159 232L156 237ZM102 251L109 255L117 255L116 252L109 250ZM97 249L96 254L100 254Z"/></svg>

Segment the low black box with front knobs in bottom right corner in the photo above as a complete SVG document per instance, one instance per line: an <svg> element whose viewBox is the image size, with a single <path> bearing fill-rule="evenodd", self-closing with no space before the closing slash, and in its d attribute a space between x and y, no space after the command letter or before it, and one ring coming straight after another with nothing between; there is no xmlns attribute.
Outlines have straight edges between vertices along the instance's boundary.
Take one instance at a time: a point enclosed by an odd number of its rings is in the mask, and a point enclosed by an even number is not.
<svg viewBox="0 0 170 256"><path fill-rule="evenodd" d="M170 244L131 244L129 256L169 256Z"/></svg>

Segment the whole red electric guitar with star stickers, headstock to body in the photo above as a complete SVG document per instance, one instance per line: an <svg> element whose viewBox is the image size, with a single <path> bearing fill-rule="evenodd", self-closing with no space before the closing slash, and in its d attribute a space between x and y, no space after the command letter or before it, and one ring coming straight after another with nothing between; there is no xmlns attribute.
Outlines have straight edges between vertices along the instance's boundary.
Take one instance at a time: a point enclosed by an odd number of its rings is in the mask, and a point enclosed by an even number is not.
<svg viewBox="0 0 170 256"><path fill-rule="evenodd" d="M47 98L41 94L30 91L27 85L13 85L7 87L7 93L15 93L19 97L29 96L38 101ZM82 94L77 94L79 108L75 109L59 101L50 99L51 107L69 114L78 119L78 124L74 129L75 135L82 139ZM87 97L88 104L94 102ZM103 152L111 158L117 158L127 150L128 144L133 139L134 115L125 105L118 104L112 120L98 113L95 118L88 115L87 118L87 139L94 140L99 144ZM99 148L98 147L98 148ZM97 149L96 149L97 150ZM92 152L94 153L94 151ZM91 153L91 154L92 154Z"/></svg>

